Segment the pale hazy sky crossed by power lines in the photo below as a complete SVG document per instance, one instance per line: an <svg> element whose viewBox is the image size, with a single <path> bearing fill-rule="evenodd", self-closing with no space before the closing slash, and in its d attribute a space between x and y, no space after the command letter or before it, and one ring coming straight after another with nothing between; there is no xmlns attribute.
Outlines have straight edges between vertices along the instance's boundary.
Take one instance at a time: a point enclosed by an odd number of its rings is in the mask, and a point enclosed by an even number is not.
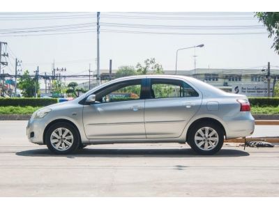
<svg viewBox="0 0 279 209"><path fill-rule="evenodd" d="M59 30L73 24L72 34ZM81 24L86 26L81 28ZM95 24L94 12L0 13L0 41L8 42L10 52L5 72L14 72L15 57L31 72L39 65L40 73L50 73L54 60L55 67L67 68L66 75L88 72L89 63L91 70L96 70ZM50 26L56 31L26 29ZM3 34L7 29L25 32ZM259 69L268 61L279 66L278 54L271 49L272 39L254 13L100 13L100 69L109 68L110 59L117 69L154 57L165 70L174 70L176 49L199 44L204 47L196 49L197 68ZM194 49L179 51L178 70L194 68L194 53Z"/></svg>

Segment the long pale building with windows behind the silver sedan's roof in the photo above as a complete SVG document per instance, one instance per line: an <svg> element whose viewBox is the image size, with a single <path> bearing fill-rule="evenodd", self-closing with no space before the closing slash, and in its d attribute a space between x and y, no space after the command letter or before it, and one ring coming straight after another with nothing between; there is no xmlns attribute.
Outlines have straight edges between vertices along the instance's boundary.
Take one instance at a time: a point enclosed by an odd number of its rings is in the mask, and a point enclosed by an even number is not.
<svg viewBox="0 0 279 209"><path fill-rule="evenodd" d="M100 70L101 82L107 82L110 76L115 78L117 70ZM165 74L174 75L175 70L164 70ZM267 96L267 70L258 69L213 69L197 68L195 70L177 70L177 75L195 77L203 82L216 86L224 91L246 94L248 96ZM279 69L271 69L271 95L273 86L279 80ZM92 86L96 79L91 82ZM81 87L89 87L89 82L80 84ZM257 90L257 88L259 88ZM243 91L242 91L243 90Z"/></svg>

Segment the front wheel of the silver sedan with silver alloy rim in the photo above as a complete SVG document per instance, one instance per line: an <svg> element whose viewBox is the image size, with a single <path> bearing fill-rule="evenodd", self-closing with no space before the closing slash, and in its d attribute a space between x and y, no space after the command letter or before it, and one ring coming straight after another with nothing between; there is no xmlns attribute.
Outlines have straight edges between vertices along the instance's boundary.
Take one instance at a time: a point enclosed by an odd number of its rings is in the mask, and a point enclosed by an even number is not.
<svg viewBox="0 0 279 209"><path fill-rule="evenodd" d="M45 134L45 143L55 154L73 153L80 146L80 137L70 123L55 123Z"/></svg>

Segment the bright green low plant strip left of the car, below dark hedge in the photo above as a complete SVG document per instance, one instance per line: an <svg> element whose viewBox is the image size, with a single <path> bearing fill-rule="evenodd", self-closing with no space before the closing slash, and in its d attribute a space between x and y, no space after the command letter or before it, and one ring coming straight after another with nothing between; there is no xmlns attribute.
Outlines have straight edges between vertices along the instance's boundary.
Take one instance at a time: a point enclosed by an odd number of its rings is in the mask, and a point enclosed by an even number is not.
<svg viewBox="0 0 279 209"><path fill-rule="evenodd" d="M0 114L33 114L34 111L40 109L41 107L20 107L20 106L7 106L7 107L0 107Z"/></svg>

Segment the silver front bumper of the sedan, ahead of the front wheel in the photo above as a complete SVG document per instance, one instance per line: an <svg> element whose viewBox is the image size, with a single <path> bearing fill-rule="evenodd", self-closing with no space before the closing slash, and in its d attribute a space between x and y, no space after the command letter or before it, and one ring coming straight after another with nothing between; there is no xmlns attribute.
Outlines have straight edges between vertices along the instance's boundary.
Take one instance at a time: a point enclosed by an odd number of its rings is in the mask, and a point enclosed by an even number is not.
<svg viewBox="0 0 279 209"><path fill-rule="evenodd" d="M45 130L45 123L40 119L31 118L27 124L27 138L34 144L43 143L43 132Z"/></svg>

